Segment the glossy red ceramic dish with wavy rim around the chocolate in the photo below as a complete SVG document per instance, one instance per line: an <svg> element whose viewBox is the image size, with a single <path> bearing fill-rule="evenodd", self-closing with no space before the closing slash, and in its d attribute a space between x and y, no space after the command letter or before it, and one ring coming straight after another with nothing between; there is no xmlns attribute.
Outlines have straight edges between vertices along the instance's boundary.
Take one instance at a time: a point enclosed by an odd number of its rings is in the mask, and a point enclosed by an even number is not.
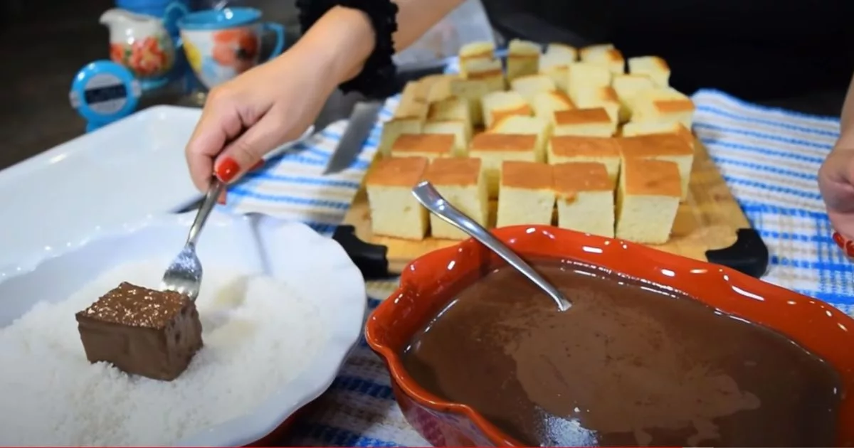
<svg viewBox="0 0 854 448"><path fill-rule="evenodd" d="M854 319L821 300L794 293L719 265L664 253L625 241L546 226L494 231L522 255L575 259L641 280L669 286L753 323L780 331L839 371L854 391ZM404 416L436 446L524 446L465 404L449 403L420 387L399 354L412 336L453 295L482 276L497 256L466 240L412 261L401 286L369 317L366 339L383 358ZM839 410L838 446L854 445L854 393Z"/></svg>

